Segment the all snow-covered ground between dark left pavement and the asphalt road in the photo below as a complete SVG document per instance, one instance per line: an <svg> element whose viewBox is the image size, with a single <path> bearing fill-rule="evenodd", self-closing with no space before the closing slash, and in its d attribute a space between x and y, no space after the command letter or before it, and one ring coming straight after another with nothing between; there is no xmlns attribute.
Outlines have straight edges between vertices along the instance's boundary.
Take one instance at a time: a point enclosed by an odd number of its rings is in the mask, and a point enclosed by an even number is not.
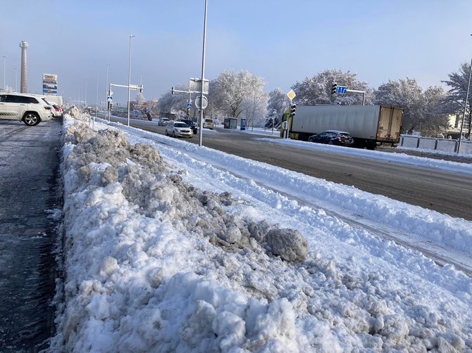
<svg viewBox="0 0 472 353"><path fill-rule="evenodd" d="M472 352L472 279L336 214L465 259L471 222L72 113L52 351Z"/></svg>

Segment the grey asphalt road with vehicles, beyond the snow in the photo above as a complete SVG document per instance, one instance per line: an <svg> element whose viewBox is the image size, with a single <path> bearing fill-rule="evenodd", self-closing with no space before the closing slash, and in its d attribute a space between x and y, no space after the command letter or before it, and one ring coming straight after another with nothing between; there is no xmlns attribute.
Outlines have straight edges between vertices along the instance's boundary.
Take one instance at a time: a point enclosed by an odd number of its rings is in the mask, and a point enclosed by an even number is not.
<svg viewBox="0 0 472 353"><path fill-rule="evenodd" d="M131 120L131 125L164 133L156 122ZM472 175L282 147L257 141L260 137L218 129L218 134L204 134L203 145L472 221ZM197 135L186 141L198 140Z"/></svg>

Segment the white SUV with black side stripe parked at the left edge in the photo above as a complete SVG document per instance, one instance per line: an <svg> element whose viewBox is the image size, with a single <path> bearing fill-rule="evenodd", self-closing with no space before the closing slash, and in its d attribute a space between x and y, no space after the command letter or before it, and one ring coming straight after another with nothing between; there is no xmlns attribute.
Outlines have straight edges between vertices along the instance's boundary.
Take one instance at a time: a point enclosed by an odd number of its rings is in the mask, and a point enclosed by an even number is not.
<svg viewBox="0 0 472 353"><path fill-rule="evenodd" d="M32 127L51 118L51 105L43 96L0 93L0 120L19 120Z"/></svg>

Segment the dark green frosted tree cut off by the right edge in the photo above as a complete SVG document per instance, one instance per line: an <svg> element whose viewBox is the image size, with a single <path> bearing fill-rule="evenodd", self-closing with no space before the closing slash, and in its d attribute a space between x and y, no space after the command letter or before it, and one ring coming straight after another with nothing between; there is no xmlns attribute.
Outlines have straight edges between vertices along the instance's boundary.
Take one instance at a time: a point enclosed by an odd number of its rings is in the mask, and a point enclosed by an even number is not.
<svg viewBox="0 0 472 353"><path fill-rule="evenodd" d="M449 79L442 81L450 87L447 97L445 98L445 107L450 113L464 114L464 105L466 103L468 75L471 65L468 63L461 64L459 71L450 73ZM469 92L470 94L470 92ZM464 128L468 129L468 135L471 134L472 128L472 99L469 97L466 108L466 122Z"/></svg>

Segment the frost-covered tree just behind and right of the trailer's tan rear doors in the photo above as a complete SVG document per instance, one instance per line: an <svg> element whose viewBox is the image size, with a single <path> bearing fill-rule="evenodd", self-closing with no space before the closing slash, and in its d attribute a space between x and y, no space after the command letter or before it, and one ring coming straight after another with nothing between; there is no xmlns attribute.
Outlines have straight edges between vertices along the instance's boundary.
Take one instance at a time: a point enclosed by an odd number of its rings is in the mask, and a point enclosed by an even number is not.
<svg viewBox="0 0 472 353"><path fill-rule="evenodd" d="M375 104L404 109L402 132L421 131L423 135L435 135L448 126L447 113L443 110L443 89L431 86L426 91L416 79L390 79L374 92Z"/></svg>

